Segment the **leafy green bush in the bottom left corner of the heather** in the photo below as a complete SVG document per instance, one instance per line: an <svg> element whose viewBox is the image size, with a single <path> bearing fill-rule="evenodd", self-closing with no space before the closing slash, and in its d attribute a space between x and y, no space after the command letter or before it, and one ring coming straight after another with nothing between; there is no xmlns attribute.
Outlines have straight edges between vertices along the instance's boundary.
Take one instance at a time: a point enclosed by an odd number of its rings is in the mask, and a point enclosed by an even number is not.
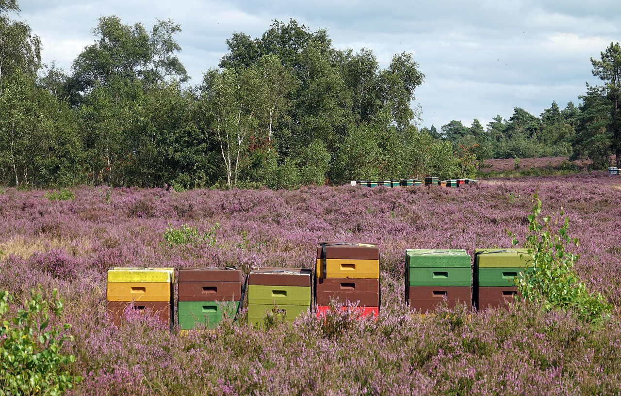
<svg viewBox="0 0 621 396"><path fill-rule="evenodd" d="M57 290L53 291L53 302L32 290L26 307L17 310L15 317L7 318L12 296L0 291L1 396L61 395L81 380L68 369L75 357L62 353L65 341L73 341L73 336L64 331L70 325L50 326L50 312L60 317L63 310L56 298Z"/></svg>

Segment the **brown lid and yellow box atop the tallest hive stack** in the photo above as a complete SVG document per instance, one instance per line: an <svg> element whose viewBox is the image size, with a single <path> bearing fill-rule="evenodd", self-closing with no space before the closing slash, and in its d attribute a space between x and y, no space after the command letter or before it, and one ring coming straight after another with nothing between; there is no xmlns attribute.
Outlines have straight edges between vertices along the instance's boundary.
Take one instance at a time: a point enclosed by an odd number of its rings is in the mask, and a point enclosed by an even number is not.
<svg viewBox="0 0 621 396"><path fill-rule="evenodd" d="M324 278L379 278L379 246L365 242L320 242L315 273Z"/></svg>

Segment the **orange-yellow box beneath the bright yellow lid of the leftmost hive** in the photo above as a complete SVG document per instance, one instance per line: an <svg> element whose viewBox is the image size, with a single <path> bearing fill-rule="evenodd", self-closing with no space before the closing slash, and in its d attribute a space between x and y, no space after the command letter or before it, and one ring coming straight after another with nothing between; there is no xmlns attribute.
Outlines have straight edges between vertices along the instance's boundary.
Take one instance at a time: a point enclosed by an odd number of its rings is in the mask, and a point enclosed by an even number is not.
<svg viewBox="0 0 621 396"><path fill-rule="evenodd" d="M171 300L170 282L108 282L108 301L150 301Z"/></svg>

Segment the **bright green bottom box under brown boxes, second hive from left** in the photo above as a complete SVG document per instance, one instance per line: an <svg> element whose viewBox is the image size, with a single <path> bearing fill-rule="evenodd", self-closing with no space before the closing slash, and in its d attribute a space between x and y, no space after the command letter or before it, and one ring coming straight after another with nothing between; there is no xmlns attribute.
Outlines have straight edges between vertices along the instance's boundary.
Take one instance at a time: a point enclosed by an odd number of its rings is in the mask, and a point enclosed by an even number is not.
<svg viewBox="0 0 621 396"><path fill-rule="evenodd" d="M199 326L215 328L224 317L235 317L239 301L179 301L177 318L181 330Z"/></svg>

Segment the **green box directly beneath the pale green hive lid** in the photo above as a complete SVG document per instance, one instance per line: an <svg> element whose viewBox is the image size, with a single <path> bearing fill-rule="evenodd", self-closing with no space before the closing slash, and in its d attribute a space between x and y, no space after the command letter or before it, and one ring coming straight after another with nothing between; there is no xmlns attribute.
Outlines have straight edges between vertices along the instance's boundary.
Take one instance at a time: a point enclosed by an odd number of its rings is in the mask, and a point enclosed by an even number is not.
<svg viewBox="0 0 621 396"><path fill-rule="evenodd" d="M406 276L407 286L472 286L472 269L466 267L414 267Z"/></svg>

